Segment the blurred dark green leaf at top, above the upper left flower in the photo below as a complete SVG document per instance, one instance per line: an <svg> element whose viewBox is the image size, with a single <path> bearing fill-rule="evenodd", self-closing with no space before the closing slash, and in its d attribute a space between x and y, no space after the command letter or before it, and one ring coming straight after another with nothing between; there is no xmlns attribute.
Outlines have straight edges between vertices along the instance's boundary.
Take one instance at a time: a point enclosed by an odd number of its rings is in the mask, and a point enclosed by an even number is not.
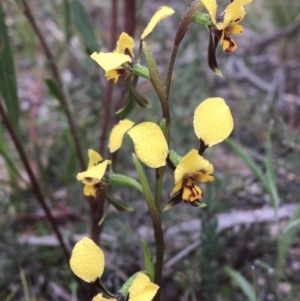
<svg viewBox="0 0 300 301"><path fill-rule="evenodd" d="M75 27L83 39L89 54L99 51L99 45L92 24L81 2L79 0L72 0L71 10Z"/></svg>

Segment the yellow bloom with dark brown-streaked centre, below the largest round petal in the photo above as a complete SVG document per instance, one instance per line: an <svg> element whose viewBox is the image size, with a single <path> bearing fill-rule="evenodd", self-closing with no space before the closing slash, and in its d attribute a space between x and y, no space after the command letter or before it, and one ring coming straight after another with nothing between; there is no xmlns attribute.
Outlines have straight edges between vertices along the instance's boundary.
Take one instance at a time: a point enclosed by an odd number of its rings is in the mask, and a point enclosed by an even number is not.
<svg viewBox="0 0 300 301"><path fill-rule="evenodd" d="M213 165L198 154L196 149L191 150L181 158L174 172L175 186L171 197L180 192L179 201L189 202L191 205L204 206L200 201L202 190L196 182L211 182L214 177ZM170 201L172 202L172 200Z"/></svg>

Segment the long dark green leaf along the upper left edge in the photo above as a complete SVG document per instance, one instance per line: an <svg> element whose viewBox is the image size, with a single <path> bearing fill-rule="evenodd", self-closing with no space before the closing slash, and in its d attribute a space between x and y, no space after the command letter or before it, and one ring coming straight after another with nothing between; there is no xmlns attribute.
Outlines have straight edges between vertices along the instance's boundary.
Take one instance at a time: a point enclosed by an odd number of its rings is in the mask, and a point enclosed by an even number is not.
<svg viewBox="0 0 300 301"><path fill-rule="evenodd" d="M0 1L0 94L3 97L8 117L19 132L19 100L12 50L5 25L2 1Z"/></svg>

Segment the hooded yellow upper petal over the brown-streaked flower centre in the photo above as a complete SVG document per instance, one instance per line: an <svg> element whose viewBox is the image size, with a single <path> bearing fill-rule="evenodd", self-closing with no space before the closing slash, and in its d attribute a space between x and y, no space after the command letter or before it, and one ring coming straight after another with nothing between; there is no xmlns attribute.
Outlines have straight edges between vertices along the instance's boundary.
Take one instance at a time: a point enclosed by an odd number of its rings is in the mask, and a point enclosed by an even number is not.
<svg viewBox="0 0 300 301"><path fill-rule="evenodd" d="M197 172L205 170L211 174L214 171L213 165L198 154L196 149L192 149L184 157L181 158L174 172L175 185L182 179L191 177Z"/></svg>

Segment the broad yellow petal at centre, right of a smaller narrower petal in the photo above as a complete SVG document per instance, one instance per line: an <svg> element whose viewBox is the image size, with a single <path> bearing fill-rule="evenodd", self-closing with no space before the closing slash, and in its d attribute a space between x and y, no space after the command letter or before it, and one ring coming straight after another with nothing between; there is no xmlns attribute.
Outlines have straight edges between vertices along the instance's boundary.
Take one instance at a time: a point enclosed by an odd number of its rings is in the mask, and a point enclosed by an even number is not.
<svg viewBox="0 0 300 301"><path fill-rule="evenodd" d="M128 131L128 135L133 140L136 155L143 163L152 168L166 165L168 144L156 123L140 123Z"/></svg>

